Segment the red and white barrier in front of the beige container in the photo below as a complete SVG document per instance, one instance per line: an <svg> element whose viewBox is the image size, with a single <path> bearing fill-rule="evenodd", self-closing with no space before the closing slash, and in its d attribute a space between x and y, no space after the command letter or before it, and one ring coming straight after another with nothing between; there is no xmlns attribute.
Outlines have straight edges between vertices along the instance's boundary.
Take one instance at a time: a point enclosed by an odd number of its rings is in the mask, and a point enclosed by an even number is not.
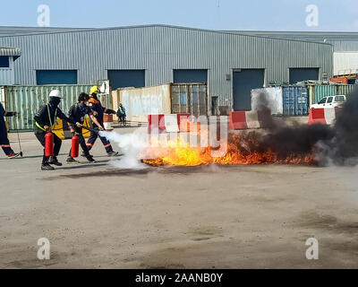
<svg viewBox="0 0 358 287"><path fill-rule="evenodd" d="M191 114L148 115L148 133L186 132Z"/></svg>

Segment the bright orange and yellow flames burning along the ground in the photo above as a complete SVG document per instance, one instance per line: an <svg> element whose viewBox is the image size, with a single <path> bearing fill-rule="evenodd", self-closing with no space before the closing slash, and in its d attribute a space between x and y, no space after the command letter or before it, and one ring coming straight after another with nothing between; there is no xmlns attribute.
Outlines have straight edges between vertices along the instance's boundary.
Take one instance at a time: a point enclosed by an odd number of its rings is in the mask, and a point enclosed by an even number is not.
<svg viewBox="0 0 358 287"><path fill-rule="evenodd" d="M260 147L260 137L255 134L230 135L227 141L227 152L223 157L213 157L212 147L192 147L189 143L183 143L178 137L177 141L169 141L166 147L155 148L149 146L147 154L158 154L155 159L144 160L153 166L199 166L211 163L221 165L240 164L264 164L264 163L286 163L286 164L313 164L315 163L314 152L305 154L290 153L282 156L270 149Z"/></svg>

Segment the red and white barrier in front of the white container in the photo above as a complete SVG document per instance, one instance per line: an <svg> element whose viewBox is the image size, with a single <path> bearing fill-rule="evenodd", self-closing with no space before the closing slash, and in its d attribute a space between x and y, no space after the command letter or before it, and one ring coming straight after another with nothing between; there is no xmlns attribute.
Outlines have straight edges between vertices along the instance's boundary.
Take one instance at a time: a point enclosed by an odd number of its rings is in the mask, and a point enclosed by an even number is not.
<svg viewBox="0 0 358 287"><path fill-rule="evenodd" d="M229 129L251 129L265 127L264 118L269 116L261 111L232 111L230 112Z"/></svg>

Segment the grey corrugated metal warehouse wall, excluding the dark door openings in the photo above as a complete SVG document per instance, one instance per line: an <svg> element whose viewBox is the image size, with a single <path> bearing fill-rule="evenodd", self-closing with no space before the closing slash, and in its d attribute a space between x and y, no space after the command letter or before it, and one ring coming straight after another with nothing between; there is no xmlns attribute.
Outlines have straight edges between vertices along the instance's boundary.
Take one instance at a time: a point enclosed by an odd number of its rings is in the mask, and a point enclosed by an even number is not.
<svg viewBox="0 0 358 287"><path fill-rule="evenodd" d="M162 25L0 37L0 44L22 49L15 83L36 83L37 69L78 69L83 84L106 79L107 69L145 69L151 86L172 83L173 69L208 69L209 95L221 106L233 104L226 76L233 69L264 68L266 83L288 81L289 67L333 73L328 44Z"/></svg>

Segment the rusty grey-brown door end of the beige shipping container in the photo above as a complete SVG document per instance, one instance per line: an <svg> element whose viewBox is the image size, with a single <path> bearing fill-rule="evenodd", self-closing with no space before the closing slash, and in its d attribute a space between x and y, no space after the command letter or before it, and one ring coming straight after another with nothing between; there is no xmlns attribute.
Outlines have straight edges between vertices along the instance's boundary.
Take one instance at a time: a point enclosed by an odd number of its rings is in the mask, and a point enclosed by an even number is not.
<svg viewBox="0 0 358 287"><path fill-rule="evenodd" d="M190 113L195 117L208 115L208 85L206 83L173 83L172 113Z"/></svg>

